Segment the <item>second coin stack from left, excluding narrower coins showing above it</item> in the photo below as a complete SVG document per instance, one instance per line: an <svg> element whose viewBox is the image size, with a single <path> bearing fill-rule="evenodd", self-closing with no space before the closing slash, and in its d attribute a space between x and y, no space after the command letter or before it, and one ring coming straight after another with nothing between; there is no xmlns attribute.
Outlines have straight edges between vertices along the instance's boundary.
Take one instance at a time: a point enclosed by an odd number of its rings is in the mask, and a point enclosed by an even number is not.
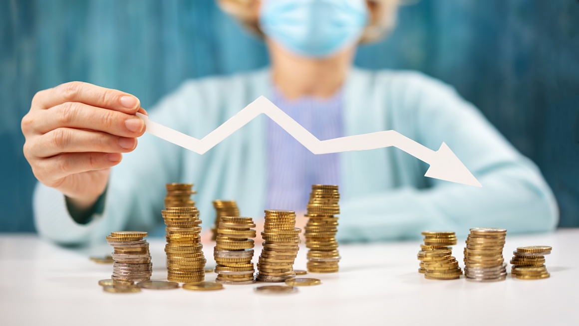
<svg viewBox="0 0 579 326"><path fill-rule="evenodd" d="M201 220L195 207L168 208L162 211L167 224L167 280L196 282L205 279L205 257L201 245Z"/></svg>

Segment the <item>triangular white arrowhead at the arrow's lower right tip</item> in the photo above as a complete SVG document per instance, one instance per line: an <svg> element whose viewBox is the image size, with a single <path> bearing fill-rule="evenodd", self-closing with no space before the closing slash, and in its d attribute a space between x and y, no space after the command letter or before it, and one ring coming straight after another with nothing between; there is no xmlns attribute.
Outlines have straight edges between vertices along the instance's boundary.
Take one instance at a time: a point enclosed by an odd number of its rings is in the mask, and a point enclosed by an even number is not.
<svg viewBox="0 0 579 326"><path fill-rule="evenodd" d="M456 157L446 143L442 143L435 154L434 161L424 176L450 182L468 184L469 186L482 187L463 162Z"/></svg>

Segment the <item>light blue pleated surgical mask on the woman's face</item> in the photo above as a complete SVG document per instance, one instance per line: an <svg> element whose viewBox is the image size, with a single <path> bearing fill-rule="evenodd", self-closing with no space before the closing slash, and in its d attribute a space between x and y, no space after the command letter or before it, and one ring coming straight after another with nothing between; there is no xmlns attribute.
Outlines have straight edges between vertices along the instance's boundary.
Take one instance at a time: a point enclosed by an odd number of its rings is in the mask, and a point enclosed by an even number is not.
<svg viewBox="0 0 579 326"><path fill-rule="evenodd" d="M260 27L286 50L328 57L358 42L368 21L365 0L262 0Z"/></svg>

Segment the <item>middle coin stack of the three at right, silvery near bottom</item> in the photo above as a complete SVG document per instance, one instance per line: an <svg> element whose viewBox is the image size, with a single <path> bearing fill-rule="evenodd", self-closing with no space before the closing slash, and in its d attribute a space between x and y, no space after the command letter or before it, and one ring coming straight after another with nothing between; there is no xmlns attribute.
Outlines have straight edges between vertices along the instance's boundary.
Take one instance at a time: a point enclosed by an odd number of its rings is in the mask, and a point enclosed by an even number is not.
<svg viewBox="0 0 579 326"><path fill-rule="evenodd" d="M464 276L479 282L502 281L507 278L503 247L507 230L472 228L464 248Z"/></svg>

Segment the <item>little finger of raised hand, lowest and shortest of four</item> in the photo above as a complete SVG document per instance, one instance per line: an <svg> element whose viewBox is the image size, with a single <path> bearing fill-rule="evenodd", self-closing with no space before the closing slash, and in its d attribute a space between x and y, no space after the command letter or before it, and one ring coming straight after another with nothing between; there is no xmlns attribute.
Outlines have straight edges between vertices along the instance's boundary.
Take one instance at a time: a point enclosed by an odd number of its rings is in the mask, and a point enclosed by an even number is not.
<svg viewBox="0 0 579 326"><path fill-rule="evenodd" d="M39 180L59 180L69 175L87 171L98 171L119 164L123 154L120 153L64 153L38 161L36 175Z"/></svg>

